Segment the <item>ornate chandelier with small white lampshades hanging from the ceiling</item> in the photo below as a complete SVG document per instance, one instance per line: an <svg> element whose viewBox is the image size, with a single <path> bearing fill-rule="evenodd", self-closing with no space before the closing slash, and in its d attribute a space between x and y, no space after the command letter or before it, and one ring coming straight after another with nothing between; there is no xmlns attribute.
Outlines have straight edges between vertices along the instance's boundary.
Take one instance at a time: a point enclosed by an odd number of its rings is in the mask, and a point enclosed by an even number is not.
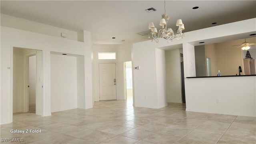
<svg viewBox="0 0 256 144"><path fill-rule="evenodd" d="M167 28L167 22L169 18L170 17L168 16L168 14L166 14L165 0L164 0L164 14L162 14L162 18L159 24L160 26L162 26L162 29L160 29L159 32L157 32L157 29L155 28L153 22L150 22L148 25L148 28L151 29L151 32L148 34L148 38L150 38L150 34L151 34L152 42L153 40L155 40L156 42L159 42L160 38L164 38L169 43L173 39L179 40L180 38L183 38L184 33L182 33L182 30L184 30L185 28L184 28L184 24L182 23L182 20L181 19L177 20L176 26L178 26L178 30L176 33L174 33L172 28ZM158 33L158 36L157 36L157 33Z"/></svg>

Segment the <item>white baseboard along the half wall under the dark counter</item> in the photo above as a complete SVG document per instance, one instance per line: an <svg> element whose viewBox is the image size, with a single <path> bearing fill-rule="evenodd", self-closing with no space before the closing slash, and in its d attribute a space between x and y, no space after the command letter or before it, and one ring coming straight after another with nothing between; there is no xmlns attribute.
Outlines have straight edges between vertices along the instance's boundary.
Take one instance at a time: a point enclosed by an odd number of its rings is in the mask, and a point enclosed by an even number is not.
<svg viewBox="0 0 256 144"><path fill-rule="evenodd" d="M255 114L250 113L235 113L235 112L225 112L225 111L215 111L215 110L194 110L194 109L188 109L186 108L186 111L188 112L204 112L204 113L210 113L210 114L227 114L227 115L234 115L234 116L252 116L255 117Z"/></svg>

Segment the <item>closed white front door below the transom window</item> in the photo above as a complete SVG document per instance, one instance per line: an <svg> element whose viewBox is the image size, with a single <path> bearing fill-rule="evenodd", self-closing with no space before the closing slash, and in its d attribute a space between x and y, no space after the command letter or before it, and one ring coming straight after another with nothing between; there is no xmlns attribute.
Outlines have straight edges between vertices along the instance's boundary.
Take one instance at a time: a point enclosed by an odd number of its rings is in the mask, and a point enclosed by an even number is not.
<svg viewBox="0 0 256 144"><path fill-rule="evenodd" d="M99 64L100 100L116 100L116 64Z"/></svg>

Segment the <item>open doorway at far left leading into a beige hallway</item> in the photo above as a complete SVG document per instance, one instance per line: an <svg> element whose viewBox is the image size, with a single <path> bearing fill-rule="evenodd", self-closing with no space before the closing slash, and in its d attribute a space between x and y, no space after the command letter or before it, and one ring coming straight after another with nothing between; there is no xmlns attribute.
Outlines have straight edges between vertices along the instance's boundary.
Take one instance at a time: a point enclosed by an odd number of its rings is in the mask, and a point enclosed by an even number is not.
<svg viewBox="0 0 256 144"><path fill-rule="evenodd" d="M12 114L42 114L42 51L13 48Z"/></svg>

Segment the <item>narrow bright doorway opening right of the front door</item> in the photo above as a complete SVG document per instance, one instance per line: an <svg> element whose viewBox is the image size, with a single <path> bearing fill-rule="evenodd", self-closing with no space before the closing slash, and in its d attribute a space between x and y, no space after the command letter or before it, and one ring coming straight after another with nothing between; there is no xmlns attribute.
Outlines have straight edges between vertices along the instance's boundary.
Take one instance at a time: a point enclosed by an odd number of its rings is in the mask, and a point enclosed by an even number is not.
<svg viewBox="0 0 256 144"><path fill-rule="evenodd" d="M126 100L132 103L132 61L124 62L124 89Z"/></svg>

